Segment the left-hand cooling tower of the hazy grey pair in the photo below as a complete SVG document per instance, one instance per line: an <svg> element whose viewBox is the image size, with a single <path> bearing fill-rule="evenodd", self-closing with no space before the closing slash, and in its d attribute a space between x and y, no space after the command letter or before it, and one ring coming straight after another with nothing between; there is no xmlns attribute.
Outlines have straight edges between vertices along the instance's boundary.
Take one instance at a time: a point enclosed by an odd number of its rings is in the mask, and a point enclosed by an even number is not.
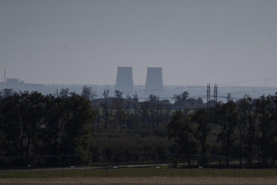
<svg viewBox="0 0 277 185"><path fill-rule="evenodd" d="M115 90L121 92L134 90L132 67L117 67Z"/></svg>

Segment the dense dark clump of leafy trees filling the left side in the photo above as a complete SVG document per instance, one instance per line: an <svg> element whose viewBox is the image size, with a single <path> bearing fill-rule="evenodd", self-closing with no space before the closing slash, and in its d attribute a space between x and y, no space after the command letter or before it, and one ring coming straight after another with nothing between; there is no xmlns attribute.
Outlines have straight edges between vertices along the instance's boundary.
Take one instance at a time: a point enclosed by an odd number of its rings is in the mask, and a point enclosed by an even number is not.
<svg viewBox="0 0 277 185"><path fill-rule="evenodd" d="M0 101L1 156L89 152L98 113L84 97L14 92Z"/></svg>

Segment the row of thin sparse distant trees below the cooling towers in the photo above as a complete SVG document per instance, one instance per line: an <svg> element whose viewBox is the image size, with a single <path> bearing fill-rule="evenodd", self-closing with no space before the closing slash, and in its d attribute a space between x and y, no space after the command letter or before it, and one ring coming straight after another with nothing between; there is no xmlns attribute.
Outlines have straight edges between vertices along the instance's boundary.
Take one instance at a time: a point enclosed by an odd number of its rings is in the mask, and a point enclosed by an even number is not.
<svg viewBox="0 0 277 185"><path fill-rule="evenodd" d="M149 95L145 101L139 101L137 94L122 97L122 92L115 90L115 97L109 97L109 90L104 90L103 97L94 99L92 105L99 110L95 120L96 130L121 129L155 129L169 123L172 104L160 100L156 95Z"/></svg>

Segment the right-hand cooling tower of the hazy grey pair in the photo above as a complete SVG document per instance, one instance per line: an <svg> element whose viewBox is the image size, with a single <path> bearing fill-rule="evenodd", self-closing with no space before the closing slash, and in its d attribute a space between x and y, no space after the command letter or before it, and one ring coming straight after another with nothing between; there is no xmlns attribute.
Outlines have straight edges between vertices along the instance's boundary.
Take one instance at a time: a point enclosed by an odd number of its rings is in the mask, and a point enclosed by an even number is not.
<svg viewBox="0 0 277 185"><path fill-rule="evenodd" d="M157 91L150 92L150 90L163 89L162 83L162 68L161 67L147 67L147 76L145 83L145 90L149 91L148 94L154 93L158 95Z"/></svg>

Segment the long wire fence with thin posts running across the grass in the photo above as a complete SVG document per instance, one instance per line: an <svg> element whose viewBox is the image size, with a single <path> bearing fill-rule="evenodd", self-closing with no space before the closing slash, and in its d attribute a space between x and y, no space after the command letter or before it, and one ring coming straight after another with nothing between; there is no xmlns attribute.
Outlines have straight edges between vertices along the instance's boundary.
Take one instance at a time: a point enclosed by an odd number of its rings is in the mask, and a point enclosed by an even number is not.
<svg viewBox="0 0 277 185"><path fill-rule="evenodd" d="M269 176L277 176L274 159L169 154L0 158L0 178Z"/></svg>

